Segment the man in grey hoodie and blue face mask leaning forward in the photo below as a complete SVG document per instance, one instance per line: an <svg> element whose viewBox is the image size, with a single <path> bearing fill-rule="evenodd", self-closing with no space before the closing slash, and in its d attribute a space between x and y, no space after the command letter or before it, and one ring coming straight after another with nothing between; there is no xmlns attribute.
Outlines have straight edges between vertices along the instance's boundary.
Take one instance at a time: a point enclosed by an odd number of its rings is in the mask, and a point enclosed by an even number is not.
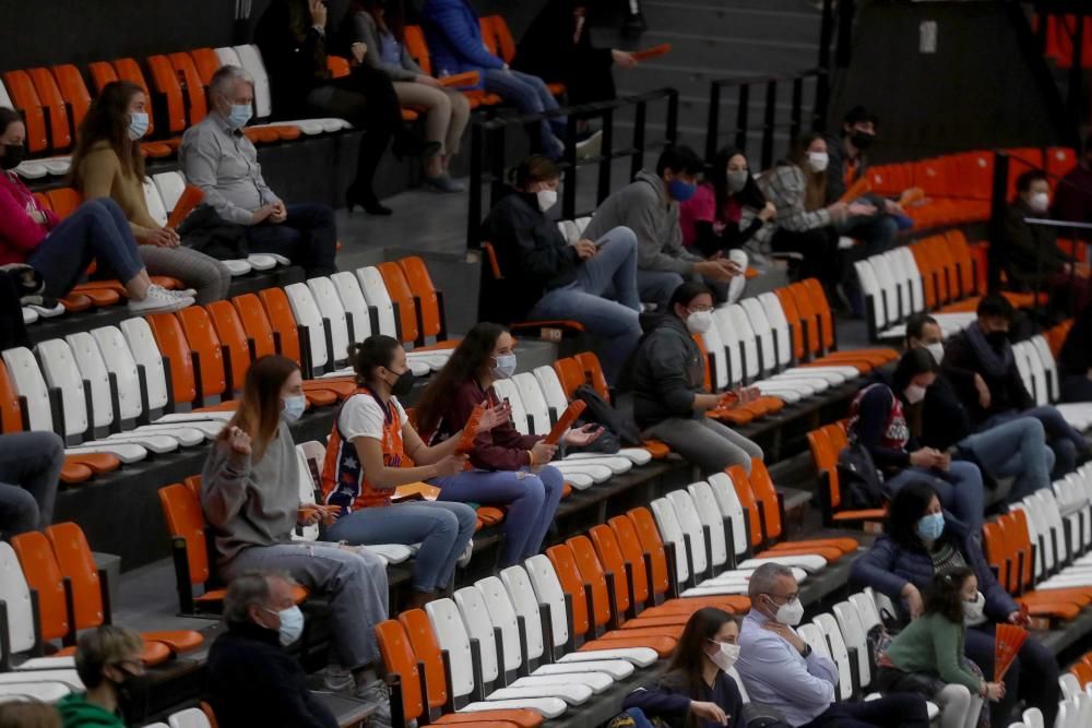
<svg viewBox="0 0 1092 728"><path fill-rule="evenodd" d="M667 308L682 279L711 284L721 298L727 282L743 273L727 260L705 260L682 247L679 203L693 196L701 159L688 146L669 146L656 171L642 169L632 182L603 201L584 236L597 240L624 225L637 235L637 286L641 300ZM723 290L721 290L723 289Z"/></svg>

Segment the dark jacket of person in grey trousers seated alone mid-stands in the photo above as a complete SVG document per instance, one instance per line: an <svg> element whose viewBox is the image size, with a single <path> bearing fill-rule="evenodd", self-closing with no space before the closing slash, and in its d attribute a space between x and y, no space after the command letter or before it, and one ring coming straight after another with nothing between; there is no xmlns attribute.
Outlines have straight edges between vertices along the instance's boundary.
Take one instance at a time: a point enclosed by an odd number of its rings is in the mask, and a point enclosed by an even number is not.
<svg viewBox="0 0 1092 728"><path fill-rule="evenodd" d="M644 429L695 417L693 395L705 384L701 349L677 315L642 317L641 327L646 333L633 355L633 419Z"/></svg>

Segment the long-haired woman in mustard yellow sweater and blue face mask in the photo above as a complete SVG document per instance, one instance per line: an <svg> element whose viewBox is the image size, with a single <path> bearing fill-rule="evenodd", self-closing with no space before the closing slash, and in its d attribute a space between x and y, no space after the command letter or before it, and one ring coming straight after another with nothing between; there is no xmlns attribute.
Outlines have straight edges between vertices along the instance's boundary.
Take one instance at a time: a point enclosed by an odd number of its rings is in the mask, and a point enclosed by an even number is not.
<svg viewBox="0 0 1092 728"><path fill-rule="evenodd" d="M152 275L166 275L193 289L198 303L227 296L232 274L214 258L181 244L178 234L147 211L140 140L147 132L147 96L129 81L107 84L87 109L75 151L73 180L85 200L110 198L124 213L141 260Z"/></svg>

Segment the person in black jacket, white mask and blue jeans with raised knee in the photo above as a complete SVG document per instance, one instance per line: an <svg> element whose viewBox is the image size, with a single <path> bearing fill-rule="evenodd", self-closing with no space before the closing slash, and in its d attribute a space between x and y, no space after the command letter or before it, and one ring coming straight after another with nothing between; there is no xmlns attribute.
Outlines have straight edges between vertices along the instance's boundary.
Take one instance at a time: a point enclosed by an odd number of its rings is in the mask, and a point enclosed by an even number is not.
<svg viewBox="0 0 1092 728"><path fill-rule="evenodd" d="M638 240L619 224L566 241L547 215L560 180L561 170L547 157L520 163L512 190L482 224L484 240L492 243L505 274L506 320L580 322L603 342L600 358L614 383L641 338Z"/></svg>

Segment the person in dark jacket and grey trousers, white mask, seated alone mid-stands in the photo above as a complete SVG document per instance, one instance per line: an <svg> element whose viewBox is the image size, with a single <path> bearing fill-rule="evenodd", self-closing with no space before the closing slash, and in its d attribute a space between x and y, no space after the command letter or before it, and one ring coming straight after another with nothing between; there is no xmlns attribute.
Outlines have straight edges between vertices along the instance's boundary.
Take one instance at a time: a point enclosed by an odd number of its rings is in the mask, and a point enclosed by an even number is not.
<svg viewBox="0 0 1092 728"><path fill-rule="evenodd" d="M762 449L705 416L721 406L722 395L704 389L705 359L693 334L713 323L713 291L700 283L684 283L664 313L642 319L644 338L633 357L633 418L644 437L662 440L701 469L719 473L740 465L750 473ZM751 396L740 393L741 402Z"/></svg>

